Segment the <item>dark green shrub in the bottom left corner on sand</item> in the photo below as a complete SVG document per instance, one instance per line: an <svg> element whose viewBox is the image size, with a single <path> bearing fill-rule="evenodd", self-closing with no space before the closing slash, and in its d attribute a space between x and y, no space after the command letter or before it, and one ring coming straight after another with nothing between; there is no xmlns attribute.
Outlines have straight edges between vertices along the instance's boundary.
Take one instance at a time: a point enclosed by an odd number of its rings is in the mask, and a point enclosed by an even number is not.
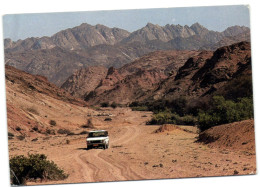
<svg viewBox="0 0 260 187"><path fill-rule="evenodd" d="M16 185L23 185L30 179L63 180L68 177L53 161L47 160L44 154L15 156L9 163L11 182Z"/></svg>

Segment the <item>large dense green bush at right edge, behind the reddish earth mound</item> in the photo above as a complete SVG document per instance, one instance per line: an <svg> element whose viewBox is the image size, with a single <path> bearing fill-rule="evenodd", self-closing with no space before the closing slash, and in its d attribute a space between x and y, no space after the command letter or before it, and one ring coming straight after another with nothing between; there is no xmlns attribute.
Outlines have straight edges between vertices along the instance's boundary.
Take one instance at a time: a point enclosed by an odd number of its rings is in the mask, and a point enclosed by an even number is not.
<svg viewBox="0 0 260 187"><path fill-rule="evenodd" d="M225 100L223 96L214 96L212 107L208 111L200 111L198 127L204 131L210 127L241 121L254 117L252 98L240 98L237 102Z"/></svg>

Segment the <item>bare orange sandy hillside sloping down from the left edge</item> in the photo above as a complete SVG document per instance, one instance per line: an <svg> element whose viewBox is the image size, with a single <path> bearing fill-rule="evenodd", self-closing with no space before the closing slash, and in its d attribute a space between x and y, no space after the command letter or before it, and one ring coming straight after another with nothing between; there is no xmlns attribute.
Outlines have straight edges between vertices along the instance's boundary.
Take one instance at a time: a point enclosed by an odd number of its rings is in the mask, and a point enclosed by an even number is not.
<svg viewBox="0 0 260 187"><path fill-rule="evenodd" d="M91 111L83 100L72 97L45 77L30 75L11 66L5 67L5 77L7 122L11 138L54 134L65 126L75 128L78 122L68 120L67 115L82 113L82 108ZM62 117L59 118L59 115ZM55 124L51 125L51 120ZM81 119L82 124L85 122Z"/></svg>

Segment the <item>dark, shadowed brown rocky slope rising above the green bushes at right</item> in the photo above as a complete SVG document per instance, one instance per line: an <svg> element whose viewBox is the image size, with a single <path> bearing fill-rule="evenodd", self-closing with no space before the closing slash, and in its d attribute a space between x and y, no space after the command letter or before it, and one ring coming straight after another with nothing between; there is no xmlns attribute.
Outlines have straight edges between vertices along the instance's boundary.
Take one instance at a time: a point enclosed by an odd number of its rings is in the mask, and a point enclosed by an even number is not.
<svg viewBox="0 0 260 187"><path fill-rule="evenodd" d="M190 58L151 98L204 97L242 75L251 76L250 43L241 42Z"/></svg>

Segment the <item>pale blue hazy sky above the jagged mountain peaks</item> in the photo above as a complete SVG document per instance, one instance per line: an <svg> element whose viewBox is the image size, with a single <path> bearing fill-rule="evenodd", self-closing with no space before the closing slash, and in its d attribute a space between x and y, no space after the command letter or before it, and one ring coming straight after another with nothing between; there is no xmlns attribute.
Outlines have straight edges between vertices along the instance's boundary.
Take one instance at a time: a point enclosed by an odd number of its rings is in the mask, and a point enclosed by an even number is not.
<svg viewBox="0 0 260 187"><path fill-rule="evenodd" d="M148 22L161 26L166 24L190 26L199 22L215 31L223 31L233 25L250 26L249 9L244 5L12 14L3 17L4 38L11 38L14 41L28 37L51 36L81 23L103 24L132 32L144 27Z"/></svg>

